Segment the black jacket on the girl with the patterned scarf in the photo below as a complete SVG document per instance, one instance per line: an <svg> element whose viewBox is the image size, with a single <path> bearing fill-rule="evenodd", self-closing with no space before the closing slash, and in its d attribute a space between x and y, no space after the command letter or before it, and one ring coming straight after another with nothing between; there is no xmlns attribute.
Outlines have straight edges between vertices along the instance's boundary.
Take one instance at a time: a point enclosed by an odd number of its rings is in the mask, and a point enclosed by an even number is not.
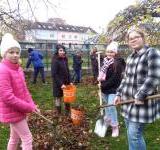
<svg viewBox="0 0 160 150"><path fill-rule="evenodd" d="M101 89L104 94L115 94L122 80L122 73L125 69L123 58L115 58L106 72L105 81L101 82Z"/></svg>

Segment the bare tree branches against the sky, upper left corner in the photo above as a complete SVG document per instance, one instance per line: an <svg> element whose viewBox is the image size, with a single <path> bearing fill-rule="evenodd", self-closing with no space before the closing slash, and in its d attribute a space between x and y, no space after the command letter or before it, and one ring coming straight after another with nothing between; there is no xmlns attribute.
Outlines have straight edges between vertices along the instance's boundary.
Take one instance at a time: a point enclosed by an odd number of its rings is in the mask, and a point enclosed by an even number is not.
<svg viewBox="0 0 160 150"><path fill-rule="evenodd" d="M0 34L10 31L16 35L23 35L32 21L38 21L35 11L39 9L39 3L44 5L45 11L49 8L57 9L50 0L0 0Z"/></svg>

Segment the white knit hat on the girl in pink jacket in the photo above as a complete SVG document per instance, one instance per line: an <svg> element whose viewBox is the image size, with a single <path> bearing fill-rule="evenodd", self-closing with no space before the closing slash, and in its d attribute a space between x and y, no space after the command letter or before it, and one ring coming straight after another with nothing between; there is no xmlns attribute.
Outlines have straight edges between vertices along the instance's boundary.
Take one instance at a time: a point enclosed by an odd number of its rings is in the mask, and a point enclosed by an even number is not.
<svg viewBox="0 0 160 150"><path fill-rule="evenodd" d="M1 41L1 46L0 46L1 56L4 57L4 54L9 49L14 47L19 48L19 50L21 50L20 44L13 38L13 35L10 33L6 33L2 37L2 41Z"/></svg>

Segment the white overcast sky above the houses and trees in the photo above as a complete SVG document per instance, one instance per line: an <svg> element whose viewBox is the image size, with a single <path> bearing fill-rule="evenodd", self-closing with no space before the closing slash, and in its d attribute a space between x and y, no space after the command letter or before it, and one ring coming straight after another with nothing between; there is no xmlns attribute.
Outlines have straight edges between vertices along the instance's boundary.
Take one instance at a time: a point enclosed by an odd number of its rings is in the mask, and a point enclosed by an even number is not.
<svg viewBox="0 0 160 150"><path fill-rule="evenodd" d="M11 7L16 6L17 3L17 0L0 1L1 5L10 2ZM31 11L29 6L25 5L26 1L19 1L21 2L19 8L26 18L28 15L29 19ZM135 4L138 0L49 0L55 4L52 7L46 7L44 4L46 1L30 0L34 6L32 9L36 20L47 21L48 18L60 17L68 24L92 27L97 32L101 32L120 10Z"/></svg>

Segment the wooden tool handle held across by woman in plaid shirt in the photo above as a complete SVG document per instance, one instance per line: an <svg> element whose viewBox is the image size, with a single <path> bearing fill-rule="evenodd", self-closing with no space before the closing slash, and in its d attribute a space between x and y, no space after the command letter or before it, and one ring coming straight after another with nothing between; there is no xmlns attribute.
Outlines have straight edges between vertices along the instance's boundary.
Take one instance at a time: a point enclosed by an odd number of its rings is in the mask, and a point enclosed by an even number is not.
<svg viewBox="0 0 160 150"><path fill-rule="evenodd" d="M157 94L157 95L151 95L151 96L147 96L146 97L146 100L153 100L153 99L158 99L160 98L160 94ZM127 101L121 101L120 103L118 103L117 105L115 104L108 104L108 105L101 105L100 107L98 108L104 108L104 107L110 107L110 106L118 106L118 105L123 105L123 104L130 104L130 103L134 103L134 100L131 99L131 100L127 100Z"/></svg>

